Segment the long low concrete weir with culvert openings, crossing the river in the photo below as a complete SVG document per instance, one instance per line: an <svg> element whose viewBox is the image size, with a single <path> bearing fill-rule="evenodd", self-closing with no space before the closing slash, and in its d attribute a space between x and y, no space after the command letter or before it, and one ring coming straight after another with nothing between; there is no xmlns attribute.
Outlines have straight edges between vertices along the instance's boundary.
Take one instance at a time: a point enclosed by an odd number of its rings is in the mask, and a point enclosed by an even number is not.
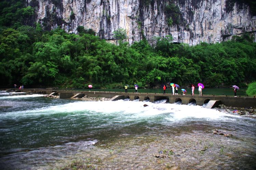
<svg viewBox="0 0 256 170"><path fill-rule="evenodd" d="M23 89L21 91L28 92L31 89ZM166 99L169 103L179 102L181 104L196 104L203 105L211 100L218 101L218 104L224 104L231 107L256 107L255 97L228 97L228 96L214 96L214 95L171 95L171 94L160 94L160 93L124 93L124 92L113 92L113 91L76 91L76 90L40 90L43 94L51 94L52 92L57 92L60 98L67 99L71 98L76 94L82 94L80 96L89 97L106 97L113 98L115 96L120 96L118 99L130 99L131 101L139 99L139 101L149 100L154 102L157 100Z"/></svg>

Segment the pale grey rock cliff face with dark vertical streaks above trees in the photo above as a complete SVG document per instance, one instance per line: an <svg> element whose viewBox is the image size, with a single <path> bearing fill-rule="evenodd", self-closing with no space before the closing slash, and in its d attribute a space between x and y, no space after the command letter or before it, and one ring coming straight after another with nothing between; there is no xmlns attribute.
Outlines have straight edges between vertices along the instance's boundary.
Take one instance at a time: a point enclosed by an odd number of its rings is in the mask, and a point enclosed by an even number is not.
<svg viewBox="0 0 256 170"><path fill-rule="evenodd" d="M248 4L235 0L27 0L35 7L44 29L60 26L77 33L78 26L114 40L123 28L127 41L172 35L174 42L216 43L232 35L256 34L256 15ZM255 36L256 37L256 36Z"/></svg>

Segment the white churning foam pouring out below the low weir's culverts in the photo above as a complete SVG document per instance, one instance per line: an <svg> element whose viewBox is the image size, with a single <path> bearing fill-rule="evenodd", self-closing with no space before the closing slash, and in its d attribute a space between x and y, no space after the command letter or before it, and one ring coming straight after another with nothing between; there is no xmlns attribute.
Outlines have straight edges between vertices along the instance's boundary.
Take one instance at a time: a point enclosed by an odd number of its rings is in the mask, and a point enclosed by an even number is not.
<svg viewBox="0 0 256 170"><path fill-rule="evenodd" d="M31 95L32 96L32 95ZM36 95L33 95L36 97ZM38 95L37 95L38 96ZM40 95L42 96L42 95ZM18 96L17 96L18 97ZM76 115L105 115L115 116L118 120L138 120L148 117L154 117L164 114L167 121L180 121L185 119L197 118L205 120L229 120L239 117L227 113L217 111L215 109L207 109L202 106L193 105L177 105L165 103L163 100L160 103L141 102L141 101L77 101L70 102L62 105L45 106L44 108L6 112L0 115L1 117L34 117L38 115L51 115L51 114L69 114L70 116ZM147 104L147 107L144 107Z"/></svg>

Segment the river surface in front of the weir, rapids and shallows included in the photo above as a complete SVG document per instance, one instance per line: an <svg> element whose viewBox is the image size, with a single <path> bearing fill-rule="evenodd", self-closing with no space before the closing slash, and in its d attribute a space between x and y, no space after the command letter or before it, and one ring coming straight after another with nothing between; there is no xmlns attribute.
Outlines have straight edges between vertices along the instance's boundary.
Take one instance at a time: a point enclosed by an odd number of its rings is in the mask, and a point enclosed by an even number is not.
<svg viewBox="0 0 256 170"><path fill-rule="evenodd" d="M253 116L165 100L0 91L0 169L62 169L74 162L84 169L256 169L255 123Z"/></svg>

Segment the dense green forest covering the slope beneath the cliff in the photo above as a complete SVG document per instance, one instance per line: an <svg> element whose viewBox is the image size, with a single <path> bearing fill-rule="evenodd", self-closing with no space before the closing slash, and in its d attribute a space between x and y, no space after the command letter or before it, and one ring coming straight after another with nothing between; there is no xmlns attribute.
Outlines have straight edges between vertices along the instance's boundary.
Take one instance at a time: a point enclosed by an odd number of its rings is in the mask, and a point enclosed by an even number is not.
<svg viewBox="0 0 256 170"><path fill-rule="evenodd" d="M124 84L159 87L175 82L186 86L246 86L256 80L256 43L249 34L197 46L156 38L129 45L125 31L114 34L118 45L78 27L79 34L62 29L44 31L28 25L33 8L22 1L0 2L0 86L123 88Z"/></svg>

